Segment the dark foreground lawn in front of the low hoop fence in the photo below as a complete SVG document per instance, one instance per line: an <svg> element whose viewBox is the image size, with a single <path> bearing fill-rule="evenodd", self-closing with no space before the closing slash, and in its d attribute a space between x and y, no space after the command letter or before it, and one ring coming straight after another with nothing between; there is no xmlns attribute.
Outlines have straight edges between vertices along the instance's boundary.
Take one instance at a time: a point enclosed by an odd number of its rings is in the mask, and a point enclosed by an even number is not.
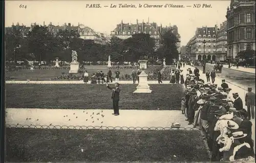
<svg viewBox="0 0 256 163"><path fill-rule="evenodd" d="M6 161L209 161L198 131L6 129ZM83 149L83 152L81 151Z"/></svg>

